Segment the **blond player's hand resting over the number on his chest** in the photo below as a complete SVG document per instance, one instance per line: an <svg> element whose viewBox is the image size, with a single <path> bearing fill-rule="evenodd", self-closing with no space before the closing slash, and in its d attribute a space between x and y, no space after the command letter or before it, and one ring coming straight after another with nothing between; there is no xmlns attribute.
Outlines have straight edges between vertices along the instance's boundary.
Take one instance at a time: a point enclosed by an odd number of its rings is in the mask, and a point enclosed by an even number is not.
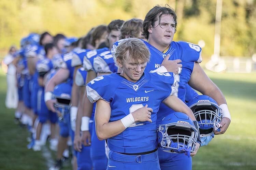
<svg viewBox="0 0 256 170"><path fill-rule="evenodd" d="M152 123L151 112L153 112L153 109L150 107L147 107L147 104L146 104L144 107L137 109L136 111L132 112L131 114L132 114L135 122L149 121Z"/></svg>

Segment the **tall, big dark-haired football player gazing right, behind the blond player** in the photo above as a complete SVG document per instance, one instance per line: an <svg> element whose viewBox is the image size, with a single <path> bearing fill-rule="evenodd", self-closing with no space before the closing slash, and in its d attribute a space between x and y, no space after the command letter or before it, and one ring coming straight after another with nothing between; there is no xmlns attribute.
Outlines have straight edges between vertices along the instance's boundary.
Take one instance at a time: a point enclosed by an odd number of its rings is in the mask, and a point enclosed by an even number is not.
<svg viewBox="0 0 256 170"><path fill-rule="evenodd" d="M177 16L175 11L168 7L155 6L146 15L143 22L143 35L148 41L144 41L150 49L150 64L146 71L164 69L163 72L176 73L178 91L176 95L185 101L185 85L204 95L212 97L224 111L221 121L221 131L215 134L223 134L230 123L230 114L225 97L219 88L208 78L199 63L202 61L201 48L198 45L184 41L175 42L173 36L177 28ZM180 63L180 64L179 64ZM160 67L164 66L164 67ZM161 105L157 117L157 124L167 116L172 109ZM172 154L159 151L161 169L191 169L192 159L184 154Z"/></svg>

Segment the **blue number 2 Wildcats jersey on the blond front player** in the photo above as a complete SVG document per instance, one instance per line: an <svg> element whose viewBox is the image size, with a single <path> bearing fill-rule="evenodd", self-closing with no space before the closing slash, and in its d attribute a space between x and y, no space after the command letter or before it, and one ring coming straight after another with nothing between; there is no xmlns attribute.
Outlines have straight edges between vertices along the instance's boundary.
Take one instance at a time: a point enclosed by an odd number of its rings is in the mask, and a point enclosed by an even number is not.
<svg viewBox="0 0 256 170"><path fill-rule="evenodd" d="M152 123L136 122L117 136L108 139L109 149L119 153L140 153L157 148L156 113L160 103L174 94L173 73L147 73L136 83L130 82L118 73L95 78L87 84L87 96L91 102L99 99L110 103L110 122L145 106L153 109Z"/></svg>

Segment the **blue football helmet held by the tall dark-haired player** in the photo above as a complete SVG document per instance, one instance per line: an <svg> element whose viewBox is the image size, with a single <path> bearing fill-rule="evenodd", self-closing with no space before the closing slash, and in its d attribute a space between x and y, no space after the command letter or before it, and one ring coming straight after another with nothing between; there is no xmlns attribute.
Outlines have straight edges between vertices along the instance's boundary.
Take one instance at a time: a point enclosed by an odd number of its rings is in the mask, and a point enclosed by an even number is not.
<svg viewBox="0 0 256 170"><path fill-rule="evenodd" d="M199 95L189 101L187 106L192 110L199 124L200 137L210 136L213 130L220 130L222 110L211 97Z"/></svg>

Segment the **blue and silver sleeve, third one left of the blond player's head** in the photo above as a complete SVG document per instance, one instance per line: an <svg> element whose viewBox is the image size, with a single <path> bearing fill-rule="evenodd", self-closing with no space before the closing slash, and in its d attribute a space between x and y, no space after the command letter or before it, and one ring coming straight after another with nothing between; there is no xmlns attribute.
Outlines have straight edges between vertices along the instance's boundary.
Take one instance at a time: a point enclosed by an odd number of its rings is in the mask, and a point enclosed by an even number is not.
<svg viewBox="0 0 256 170"><path fill-rule="evenodd" d="M77 47L77 48L74 48L72 51L74 52L74 54L71 61L71 66L76 67L76 66L83 65L84 57L86 56L87 52L90 50Z"/></svg>

